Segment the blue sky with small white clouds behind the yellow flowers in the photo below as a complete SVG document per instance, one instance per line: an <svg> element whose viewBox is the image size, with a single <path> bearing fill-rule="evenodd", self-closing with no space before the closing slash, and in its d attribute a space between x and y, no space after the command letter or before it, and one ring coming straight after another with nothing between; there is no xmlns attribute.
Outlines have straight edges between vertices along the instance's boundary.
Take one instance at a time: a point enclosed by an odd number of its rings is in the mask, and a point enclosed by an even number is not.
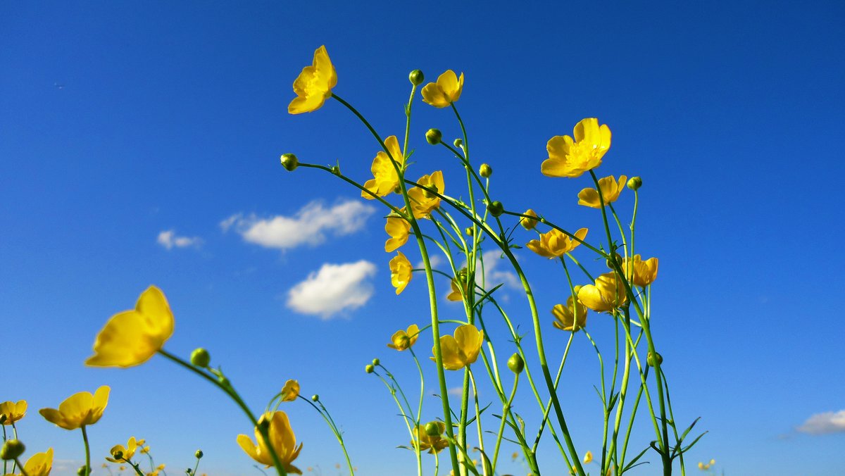
<svg viewBox="0 0 845 476"><path fill-rule="evenodd" d="M28 400L22 439L32 451L53 446L68 467L79 435L37 409L109 385L90 431L95 455L136 435L172 473L197 448L207 473L257 473L235 444L248 423L193 375L161 358L82 364L108 317L155 284L176 315L172 353L209 348L254 408L296 378L343 426L361 474L411 471L413 458L394 449L408 442L404 425L363 365L382 358L416 392L408 356L385 343L428 320L423 280L397 298L383 211L278 161L295 152L369 177L377 146L339 103L286 113L293 79L325 45L335 92L384 136L404 130L410 70L463 72L458 107L473 156L493 166L493 194L564 227L600 222L575 205L586 178L540 174L546 142L581 118L608 124L598 173L645 183L637 243L660 259L652 319L676 416L701 417L696 428L710 432L690 460L715 458L726 474L831 474L845 463L845 332L833 305L845 289L843 22L840 2L3 3L0 401ZM430 127L460 132L448 111L418 101L417 170L443 169L455 191L460 171L425 144ZM631 195L617 207L626 216ZM284 226L255 231L273 220ZM520 259L550 309L564 277L526 250ZM345 308L302 285L330 271L349 280ZM529 326L519 293L503 291ZM559 356L565 337L546 317ZM609 329L602 317L590 317L594 334ZM428 356L431 337L420 343ZM579 448L596 451L595 355L583 339L572 352L571 425ZM305 443L300 467L336 472L342 456L319 416L287 410ZM831 432L806 430L819 414ZM641 435L647 444L647 427Z"/></svg>

